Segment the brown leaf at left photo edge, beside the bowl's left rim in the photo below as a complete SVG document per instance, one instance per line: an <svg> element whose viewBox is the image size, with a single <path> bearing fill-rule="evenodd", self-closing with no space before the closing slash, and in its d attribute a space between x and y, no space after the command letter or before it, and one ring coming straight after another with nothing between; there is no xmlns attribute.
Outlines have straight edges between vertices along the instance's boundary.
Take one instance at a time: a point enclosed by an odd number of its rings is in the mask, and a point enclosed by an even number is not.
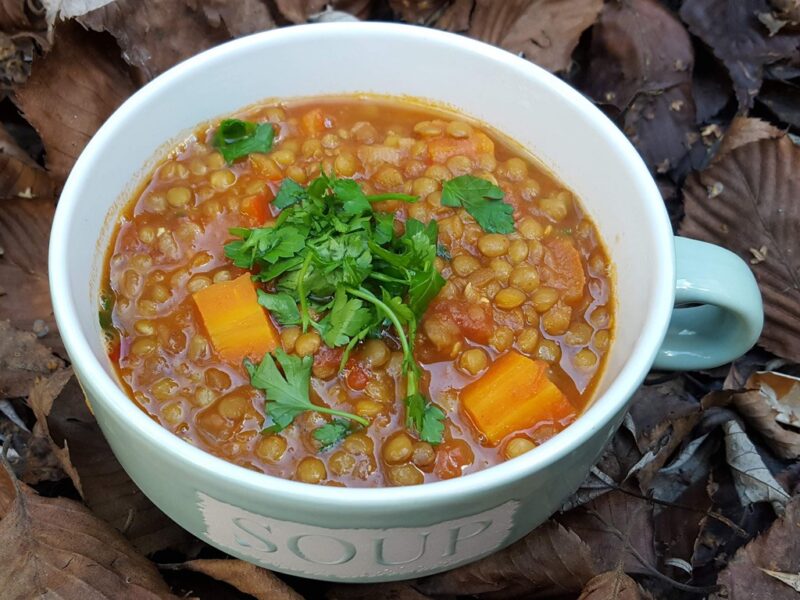
<svg viewBox="0 0 800 600"><path fill-rule="evenodd" d="M0 201L0 319L10 319L17 329L36 332L42 344L63 354L47 279L47 243L54 211L50 200Z"/></svg>

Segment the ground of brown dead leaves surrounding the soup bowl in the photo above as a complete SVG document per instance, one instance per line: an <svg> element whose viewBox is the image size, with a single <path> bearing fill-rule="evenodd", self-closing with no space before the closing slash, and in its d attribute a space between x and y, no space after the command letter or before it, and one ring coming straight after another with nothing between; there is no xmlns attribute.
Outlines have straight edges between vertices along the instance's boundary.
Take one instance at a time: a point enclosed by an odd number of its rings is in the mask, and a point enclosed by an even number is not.
<svg viewBox="0 0 800 600"><path fill-rule="evenodd" d="M766 312L758 347L735 363L651 373L584 484L530 535L454 571L368 586L226 557L139 492L69 369L46 263L61 185L139 86L232 37L354 18L481 39L580 89L639 150L676 233L751 265ZM4 597L795 598L798 25L790 0L0 0Z"/></svg>

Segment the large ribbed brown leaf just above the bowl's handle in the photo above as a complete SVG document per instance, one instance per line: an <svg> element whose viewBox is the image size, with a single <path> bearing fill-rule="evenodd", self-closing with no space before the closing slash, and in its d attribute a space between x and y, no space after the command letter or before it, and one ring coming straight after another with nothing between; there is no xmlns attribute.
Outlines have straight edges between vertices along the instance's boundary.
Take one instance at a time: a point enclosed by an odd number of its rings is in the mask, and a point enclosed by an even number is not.
<svg viewBox="0 0 800 600"><path fill-rule="evenodd" d="M689 177L683 193L681 235L750 262L764 299L759 343L800 360L800 147L783 137L736 148Z"/></svg>

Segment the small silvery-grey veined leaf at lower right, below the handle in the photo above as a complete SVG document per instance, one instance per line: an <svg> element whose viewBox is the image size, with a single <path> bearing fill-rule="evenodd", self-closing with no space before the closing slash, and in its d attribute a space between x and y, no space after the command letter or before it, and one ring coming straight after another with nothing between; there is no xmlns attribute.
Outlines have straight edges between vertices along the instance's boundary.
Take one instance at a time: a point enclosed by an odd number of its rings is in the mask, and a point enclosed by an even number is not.
<svg viewBox="0 0 800 600"><path fill-rule="evenodd" d="M789 494L775 480L753 442L735 419L723 423L725 454L742 504L769 502L782 515Z"/></svg>

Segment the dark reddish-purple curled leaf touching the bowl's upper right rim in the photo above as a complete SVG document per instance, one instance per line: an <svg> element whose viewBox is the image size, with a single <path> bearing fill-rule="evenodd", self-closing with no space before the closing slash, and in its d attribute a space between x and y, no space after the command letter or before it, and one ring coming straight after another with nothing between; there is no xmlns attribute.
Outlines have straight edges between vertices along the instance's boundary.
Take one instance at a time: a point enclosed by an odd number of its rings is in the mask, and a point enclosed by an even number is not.
<svg viewBox="0 0 800 600"><path fill-rule="evenodd" d="M692 97L694 52L683 25L657 0L609 2L592 29L584 89L623 111L622 128L659 173L699 136Z"/></svg>

